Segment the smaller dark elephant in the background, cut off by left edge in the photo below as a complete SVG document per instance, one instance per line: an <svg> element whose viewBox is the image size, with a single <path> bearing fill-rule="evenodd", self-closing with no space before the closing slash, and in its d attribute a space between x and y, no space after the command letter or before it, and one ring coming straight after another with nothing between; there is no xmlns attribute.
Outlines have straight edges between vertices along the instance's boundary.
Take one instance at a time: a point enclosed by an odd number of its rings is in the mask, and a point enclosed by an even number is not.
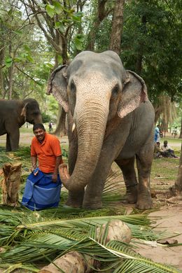
<svg viewBox="0 0 182 273"><path fill-rule="evenodd" d="M19 128L25 123L41 123L41 112L36 99L0 100L0 135L6 135L6 151L18 149Z"/></svg>

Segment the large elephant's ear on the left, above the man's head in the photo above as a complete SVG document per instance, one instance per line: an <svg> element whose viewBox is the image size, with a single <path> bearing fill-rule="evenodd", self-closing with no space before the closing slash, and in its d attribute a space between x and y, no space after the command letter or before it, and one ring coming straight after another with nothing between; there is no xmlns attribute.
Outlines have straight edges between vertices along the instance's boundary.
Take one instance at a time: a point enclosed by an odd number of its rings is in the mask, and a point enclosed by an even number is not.
<svg viewBox="0 0 182 273"><path fill-rule="evenodd" d="M52 93L57 102L61 104L66 113L69 112L69 99L67 95L66 71L68 66L66 64L57 67L50 74L48 79L47 94Z"/></svg>

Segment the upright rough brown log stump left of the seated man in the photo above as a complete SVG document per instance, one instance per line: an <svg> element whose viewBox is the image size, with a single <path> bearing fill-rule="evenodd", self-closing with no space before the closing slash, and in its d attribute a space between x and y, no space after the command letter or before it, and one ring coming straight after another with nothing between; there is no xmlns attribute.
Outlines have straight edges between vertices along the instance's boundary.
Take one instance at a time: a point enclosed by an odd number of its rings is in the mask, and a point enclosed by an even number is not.
<svg viewBox="0 0 182 273"><path fill-rule="evenodd" d="M3 165L2 204L18 206L18 190L22 174L22 163Z"/></svg>

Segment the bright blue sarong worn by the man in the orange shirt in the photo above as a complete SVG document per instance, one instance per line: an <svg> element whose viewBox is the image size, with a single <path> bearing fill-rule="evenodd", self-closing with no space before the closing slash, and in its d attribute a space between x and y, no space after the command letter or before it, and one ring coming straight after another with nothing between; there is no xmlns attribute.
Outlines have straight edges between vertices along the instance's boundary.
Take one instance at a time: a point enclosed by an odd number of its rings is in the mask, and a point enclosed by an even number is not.
<svg viewBox="0 0 182 273"><path fill-rule="evenodd" d="M22 205L34 210L57 207L60 200L61 180L57 174L57 182L52 182L52 174L45 174L38 171L27 177L25 191L22 197Z"/></svg>

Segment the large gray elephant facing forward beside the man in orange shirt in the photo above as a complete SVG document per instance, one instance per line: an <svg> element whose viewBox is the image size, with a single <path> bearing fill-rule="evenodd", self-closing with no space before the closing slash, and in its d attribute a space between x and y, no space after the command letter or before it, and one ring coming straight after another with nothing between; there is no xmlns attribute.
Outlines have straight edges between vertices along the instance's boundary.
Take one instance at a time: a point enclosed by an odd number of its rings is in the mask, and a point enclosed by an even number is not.
<svg viewBox="0 0 182 273"><path fill-rule="evenodd" d="M65 165L59 167L69 190L66 204L102 207L104 183L115 161L123 172L127 201L150 209L155 115L144 80L125 70L113 51L85 51L52 72L51 92L68 113L69 174Z"/></svg>

